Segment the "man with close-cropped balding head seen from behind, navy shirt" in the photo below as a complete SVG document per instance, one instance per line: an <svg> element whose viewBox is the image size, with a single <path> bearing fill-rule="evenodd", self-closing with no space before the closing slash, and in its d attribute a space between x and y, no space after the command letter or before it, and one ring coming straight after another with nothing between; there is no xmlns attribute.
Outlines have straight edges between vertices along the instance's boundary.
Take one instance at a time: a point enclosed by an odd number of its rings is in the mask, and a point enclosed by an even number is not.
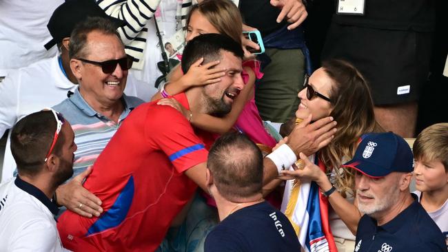
<svg viewBox="0 0 448 252"><path fill-rule="evenodd" d="M206 178L221 223L207 235L204 251L301 251L287 217L263 199L263 156L247 136L216 140Z"/></svg>

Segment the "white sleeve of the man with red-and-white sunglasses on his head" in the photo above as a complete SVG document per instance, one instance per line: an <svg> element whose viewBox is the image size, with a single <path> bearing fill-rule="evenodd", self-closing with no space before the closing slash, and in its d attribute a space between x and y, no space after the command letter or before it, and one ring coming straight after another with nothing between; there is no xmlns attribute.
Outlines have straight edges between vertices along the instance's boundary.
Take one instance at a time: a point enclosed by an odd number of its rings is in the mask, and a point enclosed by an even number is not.
<svg viewBox="0 0 448 252"><path fill-rule="evenodd" d="M54 225L48 220L33 220L11 236L8 251L64 251Z"/></svg>

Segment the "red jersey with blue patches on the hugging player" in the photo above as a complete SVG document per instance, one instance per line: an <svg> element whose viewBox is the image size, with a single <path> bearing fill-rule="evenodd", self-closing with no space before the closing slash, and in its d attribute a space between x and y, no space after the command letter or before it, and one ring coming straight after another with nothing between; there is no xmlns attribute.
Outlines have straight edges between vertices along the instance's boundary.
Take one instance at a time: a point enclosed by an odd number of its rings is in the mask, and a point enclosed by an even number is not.
<svg viewBox="0 0 448 252"><path fill-rule="evenodd" d="M185 94L174 96L189 108ZM207 161L212 136L169 106L145 103L125 119L84 187L103 202L99 218L65 211L57 227L74 251L154 251L197 185L184 171Z"/></svg>

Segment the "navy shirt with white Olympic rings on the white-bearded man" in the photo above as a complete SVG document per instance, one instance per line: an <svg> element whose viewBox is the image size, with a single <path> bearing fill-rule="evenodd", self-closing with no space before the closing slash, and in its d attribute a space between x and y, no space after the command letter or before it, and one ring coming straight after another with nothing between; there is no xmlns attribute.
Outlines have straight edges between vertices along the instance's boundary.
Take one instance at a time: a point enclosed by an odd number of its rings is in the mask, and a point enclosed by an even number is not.
<svg viewBox="0 0 448 252"><path fill-rule="evenodd" d="M445 238L413 195L414 202L383 226L364 215L358 224L355 252L447 251Z"/></svg>

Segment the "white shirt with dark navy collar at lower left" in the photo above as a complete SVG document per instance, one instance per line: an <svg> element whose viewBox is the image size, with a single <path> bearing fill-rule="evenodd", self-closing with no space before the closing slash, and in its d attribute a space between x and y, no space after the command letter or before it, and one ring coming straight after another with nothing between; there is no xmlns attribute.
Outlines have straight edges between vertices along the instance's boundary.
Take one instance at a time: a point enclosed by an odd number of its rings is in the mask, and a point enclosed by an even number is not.
<svg viewBox="0 0 448 252"><path fill-rule="evenodd" d="M59 209L17 176L0 185L0 251L66 251L56 228Z"/></svg>

